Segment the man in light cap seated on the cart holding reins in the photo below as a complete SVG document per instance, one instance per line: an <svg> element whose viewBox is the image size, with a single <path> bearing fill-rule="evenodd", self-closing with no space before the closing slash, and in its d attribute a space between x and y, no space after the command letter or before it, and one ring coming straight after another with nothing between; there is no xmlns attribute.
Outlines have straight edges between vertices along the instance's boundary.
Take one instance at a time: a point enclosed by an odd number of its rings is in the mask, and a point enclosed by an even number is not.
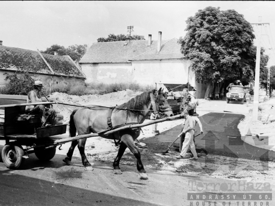
<svg viewBox="0 0 275 206"><path fill-rule="evenodd" d="M41 90L43 87L43 83L40 80L36 80L34 83L34 89L29 92L28 98L26 103L35 103L35 102L42 102L42 96L41 96ZM56 117L56 110L51 109L51 108L45 108L45 105L40 104L40 105L28 105L25 108L26 113L31 113L31 114L38 114L41 118L42 124L47 127L47 126L54 126L55 125L55 117ZM48 116L46 118L46 115ZM48 121L50 124L46 124L46 121Z"/></svg>

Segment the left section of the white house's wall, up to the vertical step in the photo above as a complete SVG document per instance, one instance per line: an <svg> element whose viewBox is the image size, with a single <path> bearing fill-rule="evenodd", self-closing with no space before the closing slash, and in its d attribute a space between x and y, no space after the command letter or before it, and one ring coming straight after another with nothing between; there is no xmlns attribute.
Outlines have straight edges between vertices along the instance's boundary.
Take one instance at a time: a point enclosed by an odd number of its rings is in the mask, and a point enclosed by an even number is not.
<svg viewBox="0 0 275 206"><path fill-rule="evenodd" d="M131 63L99 63L80 64L82 72L86 75L86 82L131 82Z"/></svg>

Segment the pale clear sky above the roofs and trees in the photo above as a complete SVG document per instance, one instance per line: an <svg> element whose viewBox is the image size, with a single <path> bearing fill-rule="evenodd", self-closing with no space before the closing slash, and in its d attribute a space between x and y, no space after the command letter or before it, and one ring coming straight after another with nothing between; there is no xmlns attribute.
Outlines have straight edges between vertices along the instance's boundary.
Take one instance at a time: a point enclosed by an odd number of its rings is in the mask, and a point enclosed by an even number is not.
<svg viewBox="0 0 275 206"><path fill-rule="evenodd" d="M0 1L0 40L30 50L91 45L108 34L127 35L130 25L132 35L145 39L151 34L157 40L158 32L162 39L179 38L186 34L187 18L208 6L236 10L250 23L262 16L270 25L270 31L262 28L262 46L270 47L270 41L275 48L275 2L263 1ZM274 50L270 62L275 65Z"/></svg>

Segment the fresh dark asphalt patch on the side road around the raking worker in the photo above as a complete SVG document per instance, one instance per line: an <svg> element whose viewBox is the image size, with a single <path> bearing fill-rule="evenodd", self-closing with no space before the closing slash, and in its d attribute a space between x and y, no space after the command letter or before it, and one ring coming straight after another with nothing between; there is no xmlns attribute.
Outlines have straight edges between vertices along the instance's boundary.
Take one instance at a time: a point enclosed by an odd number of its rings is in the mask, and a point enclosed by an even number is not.
<svg viewBox="0 0 275 206"><path fill-rule="evenodd" d="M241 140L237 128L242 114L210 112L199 117L204 134L195 138L197 148L205 148L209 154L249 160L274 160L275 152L257 148ZM181 125L158 135L162 142L173 142L181 132ZM199 134L197 125L195 135ZM179 144L179 140L176 141Z"/></svg>

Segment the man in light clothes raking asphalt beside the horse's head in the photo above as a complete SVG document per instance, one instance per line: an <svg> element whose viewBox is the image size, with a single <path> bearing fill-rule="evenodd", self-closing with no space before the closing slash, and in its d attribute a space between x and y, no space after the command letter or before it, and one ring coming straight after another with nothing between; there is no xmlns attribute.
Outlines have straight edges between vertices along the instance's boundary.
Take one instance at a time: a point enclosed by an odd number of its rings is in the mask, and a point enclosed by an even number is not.
<svg viewBox="0 0 275 206"><path fill-rule="evenodd" d="M185 134L185 138L182 143L182 150L180 152L180 155L177 157L177 159L186 158L185 155L186 155L187 150L190 146L190 151L194 157L189 158L189 159L198 160L198 155L197 155L196 147L195 147L195 143L194 143L194 132L195 132L194 129L195 129L196 124L198 123L199 127L201 129L201 134L203 134L202 123L197 116L193 116L194 109L191 109L189 111L187 109L185 109L183 112L186 115L186 120L185 120L184 128L183 128L182 132L178 135L178 137L183 138L183 135Z"/></svg>

